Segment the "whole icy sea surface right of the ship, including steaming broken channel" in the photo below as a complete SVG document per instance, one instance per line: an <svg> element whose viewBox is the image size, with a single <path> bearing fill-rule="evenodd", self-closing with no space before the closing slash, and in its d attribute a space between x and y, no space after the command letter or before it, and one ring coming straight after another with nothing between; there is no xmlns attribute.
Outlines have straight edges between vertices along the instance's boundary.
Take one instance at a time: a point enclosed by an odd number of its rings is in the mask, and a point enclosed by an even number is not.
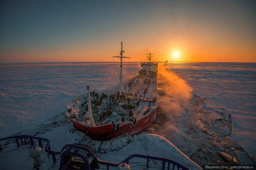
<svg viewBox="0 0 256 170"><path fill-rule="evenodd" d="M254 66L230 63L161 65L157 117L146 132L168 138L201 165L224 163L220 151L232 156L234 150L244 149L254 155ZM223 102L223 98L227 101Z"/></svg>

